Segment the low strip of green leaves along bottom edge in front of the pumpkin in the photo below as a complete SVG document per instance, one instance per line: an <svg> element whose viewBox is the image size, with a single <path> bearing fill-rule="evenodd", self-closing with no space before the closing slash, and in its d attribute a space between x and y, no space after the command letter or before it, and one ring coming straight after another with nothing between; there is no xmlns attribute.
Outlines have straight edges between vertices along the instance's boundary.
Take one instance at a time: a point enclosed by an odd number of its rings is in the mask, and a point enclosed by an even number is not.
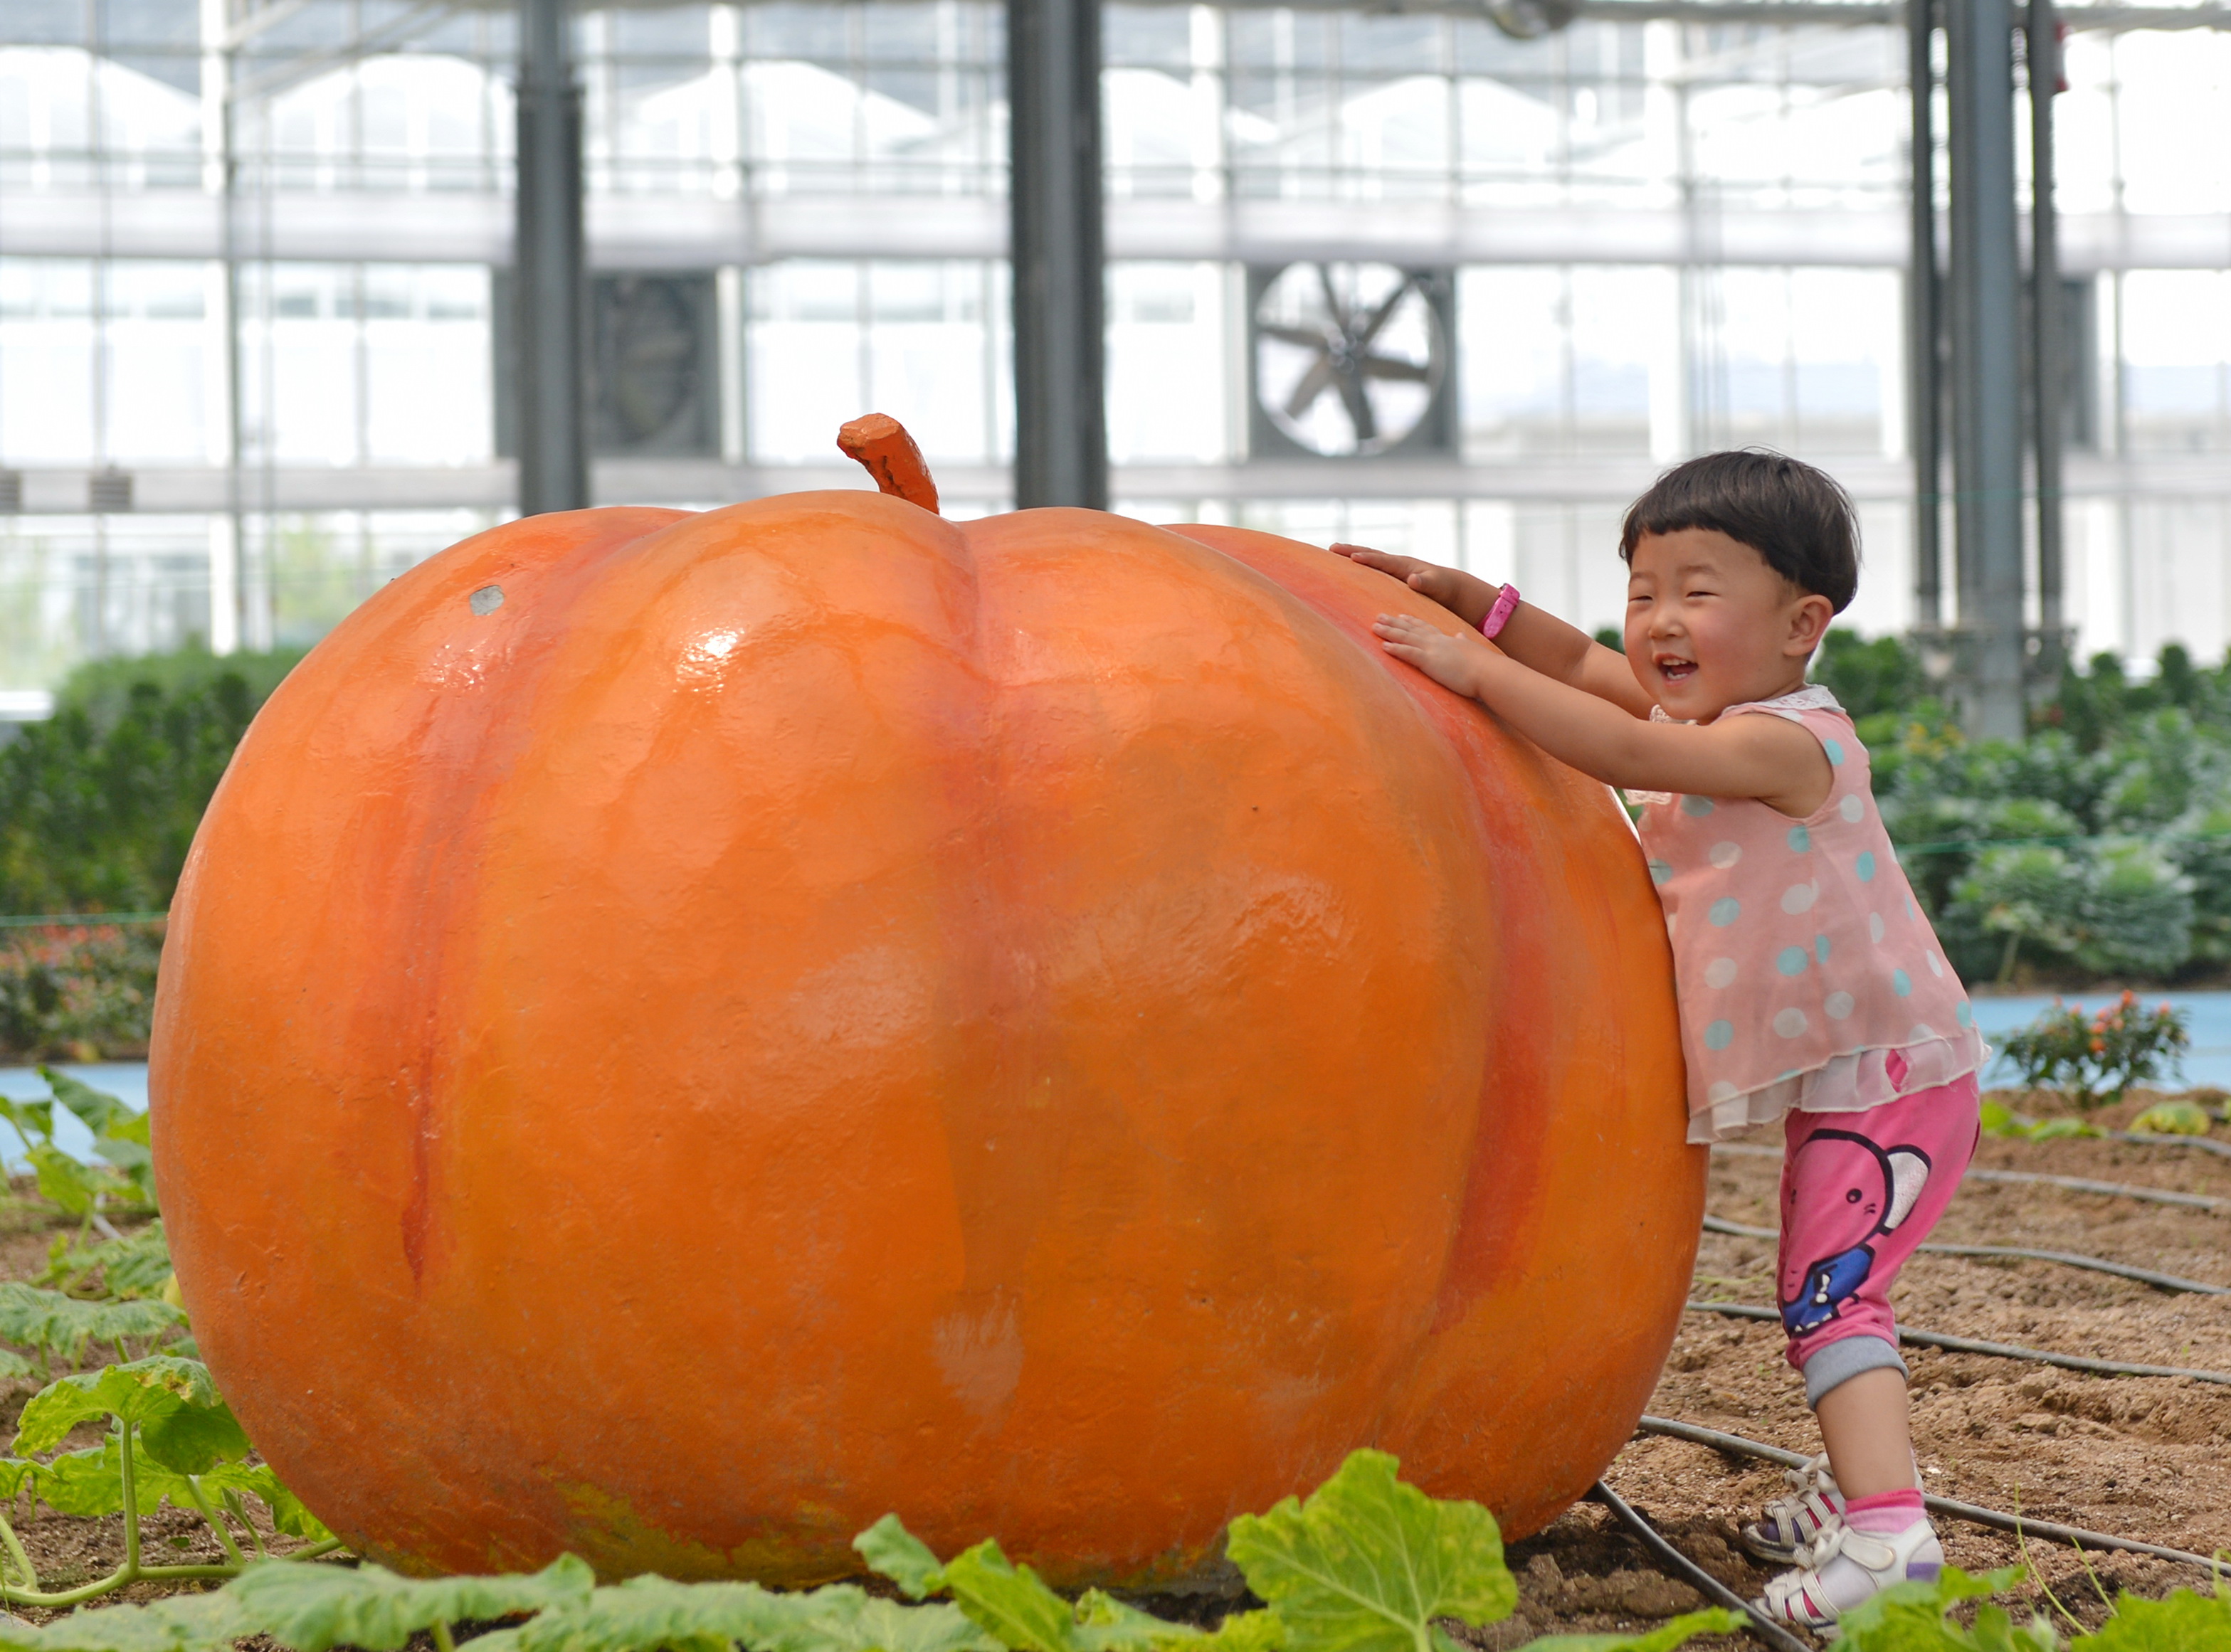
<svg viewBox="0 0 2231 1652"><path fill-rule="evenodd" d="M203 1451L207 1456L207 1449ZM112 1605L45 1627L0 1621L0 1652L216 1652L268 1634L294 1652L397 1652L428 1634L455 1652L462 1619L518 1619L475 1639L482 1652L1452 1652L1439 1616L1493 1623L1517 1587L1495 1518L1399 1483L1394 1458L1356 1451L1307 1500L1232 1525L1232 1558L1265 1601L1216 1630L1174 1623L1086 1590L1069 1601L991 1538L939 1561L897 1516L859 1534L861 1558L904 1601L852 1583L774 1592L754 1583L640 1576L596 1587L562 1556L542 1572L402 1578L259 1561L214 1594ZM207 1483L207 1476L205 1476ZM323 1547L323 1545L312 1545ZM199 1567L203 1576L221 1567ZM143 1572L143 1576L152 1576ZM944 1596L944 1598L930 1598ZM529 1616L531 1614L531 1616ZM1640 1636L1548 1636L1526 1652L1671 1652L1733 1630L1733 1612L1691 1612Z"/></svg>

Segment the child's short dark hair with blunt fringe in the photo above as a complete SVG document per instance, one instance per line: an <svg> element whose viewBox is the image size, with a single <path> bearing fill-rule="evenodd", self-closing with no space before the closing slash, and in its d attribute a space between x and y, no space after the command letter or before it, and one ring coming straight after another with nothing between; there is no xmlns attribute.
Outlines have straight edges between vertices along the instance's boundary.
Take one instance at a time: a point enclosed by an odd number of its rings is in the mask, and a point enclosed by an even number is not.
<svg viewBox="0 0 2231 1652"><path fill-rule="evenodd" d="M1620 560L1644 533L1713 528L1751 546L1798 591L1843 613L1858 593L1858 513L1827 470L1765 448L1707 453L1658 477L1626 506Z"/></svg>

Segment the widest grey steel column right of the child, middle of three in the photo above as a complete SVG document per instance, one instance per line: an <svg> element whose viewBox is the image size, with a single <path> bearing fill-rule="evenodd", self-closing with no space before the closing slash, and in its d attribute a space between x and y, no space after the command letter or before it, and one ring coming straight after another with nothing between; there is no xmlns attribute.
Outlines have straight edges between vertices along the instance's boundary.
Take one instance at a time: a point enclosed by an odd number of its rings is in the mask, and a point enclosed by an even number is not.
<svg viewBox="0 0 2231 1652"><path fill-rule="evenodd" d="M2015 236L2015 18L2008 0L1945 7L1952 149L1952 486L1961 716L2019 740L2021 261Z"/></svg>

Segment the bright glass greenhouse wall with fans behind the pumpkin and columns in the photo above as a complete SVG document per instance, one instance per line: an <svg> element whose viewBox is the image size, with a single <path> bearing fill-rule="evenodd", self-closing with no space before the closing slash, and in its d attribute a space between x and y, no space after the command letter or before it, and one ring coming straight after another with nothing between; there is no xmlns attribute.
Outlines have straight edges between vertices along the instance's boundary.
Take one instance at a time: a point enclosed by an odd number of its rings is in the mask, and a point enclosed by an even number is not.
<svg viewBox="0 0 2231 1652"><path fill-rule="evenodd" d="M1950 511L1948 595L1916 597L1903 13L1519 13L1104 7L1116 508L1464 562L1606 624L1620 506L1767 444L1861 499L1849 624L1957 624ZM2231 36L2211 7L2059 16L2064 624L2079 658L2213 660ZM315 640L518 508L509 9L18 0L0 36L18 713L103 653ZM593 499L837 482L830 430L879 408L955 508L1004 508L1002 7L585 7L573 47ZM1945 154L1932 178L1948 207ZM1383 348L1417 377L1372 381L1372 430L1336 395L1287 412L1307 350L1276 330L1397 283Z"/></svg>

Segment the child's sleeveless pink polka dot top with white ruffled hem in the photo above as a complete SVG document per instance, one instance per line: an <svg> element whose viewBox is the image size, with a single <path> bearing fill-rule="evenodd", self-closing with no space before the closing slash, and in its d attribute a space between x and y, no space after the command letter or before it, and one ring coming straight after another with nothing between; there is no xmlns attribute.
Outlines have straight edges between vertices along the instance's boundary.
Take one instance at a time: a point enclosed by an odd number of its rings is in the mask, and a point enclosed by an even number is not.
<svg viewBox="0 0 2231 1652"><path fill-rule="evenodd" d="M1990 1055L1890 847L1852 718L1820 687L1720 716L1747 711L1820 740L1834 783L1814 814L1631 794L1673 939L1691 1141L1789 1108L1861 1112Z"/></svg>

